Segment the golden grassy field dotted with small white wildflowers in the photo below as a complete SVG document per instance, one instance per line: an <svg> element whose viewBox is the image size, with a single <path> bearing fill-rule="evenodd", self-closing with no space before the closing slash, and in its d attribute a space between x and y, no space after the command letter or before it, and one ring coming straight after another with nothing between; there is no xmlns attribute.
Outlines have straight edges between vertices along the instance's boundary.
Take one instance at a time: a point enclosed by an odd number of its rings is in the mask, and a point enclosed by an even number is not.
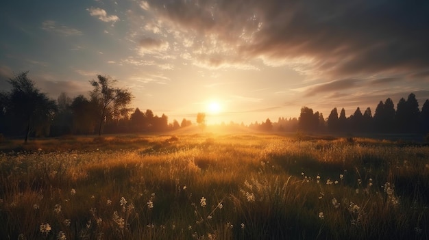
<svg viewBox="0 0 429 240"><path fill-rule="evenodd" d="M428 146L198 133L0 147L0 239L429 239Z"/></svg>

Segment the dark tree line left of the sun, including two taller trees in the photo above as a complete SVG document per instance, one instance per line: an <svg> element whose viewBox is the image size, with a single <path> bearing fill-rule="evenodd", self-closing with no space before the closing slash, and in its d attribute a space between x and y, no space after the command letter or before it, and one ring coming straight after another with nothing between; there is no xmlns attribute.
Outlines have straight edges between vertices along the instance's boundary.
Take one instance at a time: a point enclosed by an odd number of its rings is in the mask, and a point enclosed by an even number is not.
<svg viewBox="0 0 429 240"><path fill-rule="evenodd" d="M168 123L164 114L157 116L131 109L132 94L114 87L117 81L103 75L90 80L93 87L88 96L75 98L62 92L54 101L40 92L28 72L21 72L12 79L9 92L0 92L0 134L12 137L48 137L69 134L143 133L169 131L190 126L183 119Z"/></svg>

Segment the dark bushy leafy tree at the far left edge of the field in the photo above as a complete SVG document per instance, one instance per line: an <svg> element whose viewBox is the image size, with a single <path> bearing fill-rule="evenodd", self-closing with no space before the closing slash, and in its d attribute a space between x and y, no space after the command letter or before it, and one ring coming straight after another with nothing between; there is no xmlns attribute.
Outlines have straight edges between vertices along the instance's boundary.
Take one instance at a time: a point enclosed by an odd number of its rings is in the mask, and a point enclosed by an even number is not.
<svg viewBox="0 0 429 240"><path fill-rule="evenodd" d="M27 74L21 72L9 79L12 90L3 96L3 113L14 119L14 127L25 129L25 143L30 133L49 134L51 120L57 111L55 101L40 92Z"/></svg>

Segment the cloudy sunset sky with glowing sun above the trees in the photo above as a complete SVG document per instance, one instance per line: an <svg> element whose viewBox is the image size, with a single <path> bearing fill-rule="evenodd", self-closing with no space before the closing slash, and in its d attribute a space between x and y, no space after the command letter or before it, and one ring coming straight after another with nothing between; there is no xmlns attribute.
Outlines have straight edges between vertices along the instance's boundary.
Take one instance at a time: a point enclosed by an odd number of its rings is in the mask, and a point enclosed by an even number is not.
<svg viewBox="0 0 429 240"><path fill-rule="evenodd" d="M429 98L429 1L3 1L0 90L88 96L97 75L132 107L249 124ZM210 107L211 106L211 107ZM215 106L215 107L214 107Z"/></svg>

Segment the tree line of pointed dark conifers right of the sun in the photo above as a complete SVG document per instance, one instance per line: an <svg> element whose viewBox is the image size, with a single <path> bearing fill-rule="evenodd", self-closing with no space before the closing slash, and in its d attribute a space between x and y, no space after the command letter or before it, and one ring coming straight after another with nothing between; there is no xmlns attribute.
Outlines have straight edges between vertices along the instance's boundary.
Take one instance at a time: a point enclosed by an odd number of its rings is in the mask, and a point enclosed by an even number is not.
<svg viewBox="0 0 429 240"><path fill-rule="evenodd" d="M319 111L302 107L299 118L279 118L271 122L269 118L262 123L252 123L249 128L259 131L305 131L330 133L429 133L429 100L426 99L421 110L415 94L401 98L396 105L387 98L380 101L376 111L371 108L361 111L356 108L354 114L347 117L345 109L340 112L334 107L328 118L323 118Z"/></svg>

